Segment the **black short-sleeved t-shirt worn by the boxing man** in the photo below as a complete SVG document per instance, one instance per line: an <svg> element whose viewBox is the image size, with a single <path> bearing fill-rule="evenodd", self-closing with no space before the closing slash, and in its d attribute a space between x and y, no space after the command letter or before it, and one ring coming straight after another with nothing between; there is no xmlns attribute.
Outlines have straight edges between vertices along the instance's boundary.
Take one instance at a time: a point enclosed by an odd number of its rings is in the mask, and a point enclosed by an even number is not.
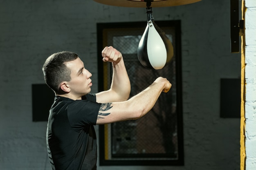
<svg viewBox="0 0 256 170"><path fill-rule="evenodd" d="M46 140L53 170L96 170L94 126L100 108L96 96L82 100L56 96L50 109Z"/></svg>

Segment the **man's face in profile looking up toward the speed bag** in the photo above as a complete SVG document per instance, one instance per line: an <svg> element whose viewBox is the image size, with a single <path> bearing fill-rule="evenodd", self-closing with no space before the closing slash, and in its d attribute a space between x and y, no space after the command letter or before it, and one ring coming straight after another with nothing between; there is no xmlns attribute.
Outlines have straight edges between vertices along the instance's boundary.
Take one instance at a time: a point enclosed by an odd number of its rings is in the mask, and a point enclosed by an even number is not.
<svg viewBox="0 0 256 170"><path fill-rule="evenodd" d="M79 57L76 60L66 62L67 68L71 70L71 80L67 83L70 93L76 97L81 97L91 92L92 74L84 68L83 62Z"/></svg>

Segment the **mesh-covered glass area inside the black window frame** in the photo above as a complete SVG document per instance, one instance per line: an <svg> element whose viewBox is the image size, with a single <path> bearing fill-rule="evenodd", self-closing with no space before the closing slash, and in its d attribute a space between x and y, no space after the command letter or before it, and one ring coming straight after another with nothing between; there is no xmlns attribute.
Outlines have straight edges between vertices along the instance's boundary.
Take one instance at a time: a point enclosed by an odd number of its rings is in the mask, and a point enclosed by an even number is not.
<svg viewBox="0 0 256 170"><path fill-rule="evenodd" d="M166 34L169 32L168 38L174 42L172 33L168 30L164 31ZM172 83L172 88L168 93L160 95L153 109L144 117L135 121L111 124L111 133L108 138L110 140L108 143L111 144L111 157L133 159L135 157L150 158L156 157L156 155L170 157L172 155L171 157L176 158L175 57L161 70L144 68L137 58L137 47L141 35L141 30L125 32L113 30L108 33L108 44L113 45L124 56L131 83L130 97L143 91L159 76L166 77ZM112 67L109 65L108 69L108 84L110 85Z"/></svg>

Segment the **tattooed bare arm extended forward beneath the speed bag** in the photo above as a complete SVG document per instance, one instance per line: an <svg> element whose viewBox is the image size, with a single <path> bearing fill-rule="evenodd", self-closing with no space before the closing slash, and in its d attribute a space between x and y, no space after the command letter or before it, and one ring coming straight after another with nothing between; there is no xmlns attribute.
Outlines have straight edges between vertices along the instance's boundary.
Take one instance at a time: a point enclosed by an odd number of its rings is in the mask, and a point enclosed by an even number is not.
<svg viewBox="0 0 256 170"><path fill-rule="evenodd" d="M148 88L127 101L101 104L96 124L139 119L153 108L161 92L167 93L170 88L171 83L166 78L158 77Z"/></svg>

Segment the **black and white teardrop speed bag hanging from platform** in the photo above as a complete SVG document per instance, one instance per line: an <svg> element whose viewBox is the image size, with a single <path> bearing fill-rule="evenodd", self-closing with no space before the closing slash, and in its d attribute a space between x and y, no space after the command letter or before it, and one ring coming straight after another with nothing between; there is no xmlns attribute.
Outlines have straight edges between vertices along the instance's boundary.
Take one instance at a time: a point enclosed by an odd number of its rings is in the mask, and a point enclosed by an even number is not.
<svg viewBox="0 0 256 170"><path fill-rule="evenodd" d="M150 13L151 14L151 13ZM152 15L138 46L139 62L149 69L161 69L173 57L173 45L154 22Z"/></svg>

